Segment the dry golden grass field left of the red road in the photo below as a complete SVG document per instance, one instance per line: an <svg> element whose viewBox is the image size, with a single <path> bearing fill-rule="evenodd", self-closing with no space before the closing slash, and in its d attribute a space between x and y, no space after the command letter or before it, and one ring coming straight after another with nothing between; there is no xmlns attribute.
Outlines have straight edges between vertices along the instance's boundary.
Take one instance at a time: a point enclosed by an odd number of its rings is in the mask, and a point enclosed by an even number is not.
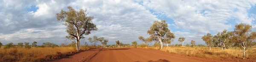
<svg viewBox="0 0 256 62"><path fill-rule="evenodd" d="M89 47L81 47L82 50L88 50ZM75 47L45 47L45 48L10 48L0 49L0 62L40 62L46 59L46 56L56 55L76 51Z"/></svg>

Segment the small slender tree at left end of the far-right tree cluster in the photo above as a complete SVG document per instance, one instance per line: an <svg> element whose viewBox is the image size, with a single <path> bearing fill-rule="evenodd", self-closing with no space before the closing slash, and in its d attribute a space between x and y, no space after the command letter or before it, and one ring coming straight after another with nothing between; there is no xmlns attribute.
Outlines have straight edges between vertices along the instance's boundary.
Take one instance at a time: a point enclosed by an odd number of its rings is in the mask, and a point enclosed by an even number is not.
<svg viewBox="0 0 256 62"><path fill-rule="evenodd" d="M202 37L202 39L204 40L204 42L208 45L208 47L211 50L211 46L212 46L212 34L207 33L207 35L204 35Z"/></svg>

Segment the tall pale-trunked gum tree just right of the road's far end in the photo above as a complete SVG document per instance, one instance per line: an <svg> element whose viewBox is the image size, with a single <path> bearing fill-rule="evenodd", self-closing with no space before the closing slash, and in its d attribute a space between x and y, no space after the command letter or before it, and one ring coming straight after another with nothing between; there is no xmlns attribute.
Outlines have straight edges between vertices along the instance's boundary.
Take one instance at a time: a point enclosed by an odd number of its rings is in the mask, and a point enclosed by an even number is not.
<svg viewBox="0 0 256 62"><path fill-rule="evenodd" d="M168 23L166 20L154 21L150 29L147 31L147 34L150 35L152 40L161 43L161 49L163 49L163 43L165 40L171 40L175 38L174 33L170 32L168 28Z"/></svg>

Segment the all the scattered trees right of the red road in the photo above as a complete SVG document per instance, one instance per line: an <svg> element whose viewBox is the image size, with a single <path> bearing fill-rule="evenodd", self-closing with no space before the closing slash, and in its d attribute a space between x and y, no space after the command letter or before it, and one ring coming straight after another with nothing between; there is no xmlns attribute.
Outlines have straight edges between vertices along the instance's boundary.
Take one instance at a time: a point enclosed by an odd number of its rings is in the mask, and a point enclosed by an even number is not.
<svg viewBox="0 0 256 62"><path fill-rule="evenodd" d="M256 45L255 39L256 39L256 32L251 30L252 26L248 24L236 24L234 31L227 31L226 29L219 32L218 34L212 36L212 34L208 33L207 35L204 35L201 39L205 41L207 44L207 47L209 47L209 50L211 50L211 47L219 47L222 50L229 49L231 47L238 47L241 48L243 59L245 53L252 47L253 45ZM166 20L160 20L160 21L154 21L153 25L148 29L147 34L150 35L148 38L144 38L142 36L138 37L145 45L148 46L148 43L154 41L154 45L161 46L161 49L163 49L163 44L169 44L173 42L173 39L175 38L174 33L170 32L168 25L166 23ZM178 41L182 44L176 44L171 46L183 46L183 42L185 41L185 37L178 38ZM137 42L133 44L134 46L137 45ZM189 44L186 44L186 46L189 46ZM195 41L191 40L191 47L199 46L199 47L205 47L205 45L195 45ZM137 46L135 46L137 47Z"/></svg>

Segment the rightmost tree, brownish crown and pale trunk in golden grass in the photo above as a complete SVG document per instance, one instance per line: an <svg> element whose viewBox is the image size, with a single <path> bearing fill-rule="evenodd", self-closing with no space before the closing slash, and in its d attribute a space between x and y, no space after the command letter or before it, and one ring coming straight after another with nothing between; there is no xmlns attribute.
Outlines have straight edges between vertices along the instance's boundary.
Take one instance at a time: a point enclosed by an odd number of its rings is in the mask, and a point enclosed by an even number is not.
<svg viewBox="0 0 256 62"><path fill-rule="evenodd" d="M236 24L234 29L234 37L232 39L241 48L243 59L245 58L245 53L251 48L256 39L256 32L252 32L251 28L251 25L241 23Z"/></svg>

